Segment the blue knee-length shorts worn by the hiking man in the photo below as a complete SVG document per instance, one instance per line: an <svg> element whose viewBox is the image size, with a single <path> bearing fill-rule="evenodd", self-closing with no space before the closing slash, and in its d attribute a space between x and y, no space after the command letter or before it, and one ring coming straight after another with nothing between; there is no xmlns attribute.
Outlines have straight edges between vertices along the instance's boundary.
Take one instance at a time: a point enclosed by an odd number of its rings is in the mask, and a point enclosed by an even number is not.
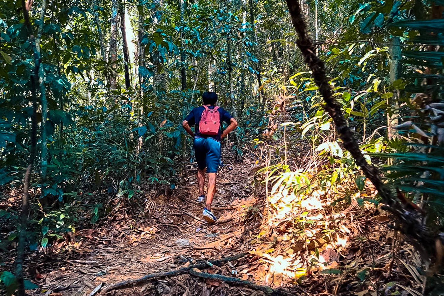
<svg viewBox="0 0 444 296"><path fill-rule="evenodd" d="M213 138L195 138L194 152L200 170L217 173L221 159L221 142Z"/></svg>

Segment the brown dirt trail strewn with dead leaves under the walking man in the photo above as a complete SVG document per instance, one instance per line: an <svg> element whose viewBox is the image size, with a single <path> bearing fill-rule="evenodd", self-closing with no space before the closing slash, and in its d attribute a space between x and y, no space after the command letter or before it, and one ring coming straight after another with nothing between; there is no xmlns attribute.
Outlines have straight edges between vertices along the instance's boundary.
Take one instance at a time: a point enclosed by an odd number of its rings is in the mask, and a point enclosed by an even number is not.
<svg viewBox="0 0 444 296"><path fill-rule="evenodd" d="M76 242L71 243L75 253L57 255L58 262L50 266L37 264L38 273L44 277L39 285L45 295L90 295L102 283L105 286L152 272L169 271L186 264L187 260L193 263L248 252L251 249L248 241L254 237L261 215L251 186L254 162L225 161L231 163L218 174L213 202L214 213L219 217L217 224L209 225L191 217L202 219L203 209L203 205L195 202L198 189L193 168L172 196L156 197L141 221L136 223L121 215L111 224L104 223L103 228L80 231ZM242 263L245 260L222 267L226 268L225 274L241 272L238 277L247 280L248 268ZM34 295L42 295L41 288ZM225 295L229 291L233 294L238 288L183 275L150 280L111 295L186 295L186 289L198 291L189 295L210 295L214 289L225 291L221 294Z"/></svg>

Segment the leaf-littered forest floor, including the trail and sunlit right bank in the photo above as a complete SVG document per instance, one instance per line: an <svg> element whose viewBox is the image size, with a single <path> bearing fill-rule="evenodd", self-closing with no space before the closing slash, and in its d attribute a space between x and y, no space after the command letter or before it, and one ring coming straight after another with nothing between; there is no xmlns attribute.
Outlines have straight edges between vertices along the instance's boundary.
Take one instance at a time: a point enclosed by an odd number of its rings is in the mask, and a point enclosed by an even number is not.
<svg viewBox="0 0 444 296"><path fill-rule="evenodd" d="M290 211L279 209L279 203L273 211L255 179L261 166L257 159L255 154L242 163L224 159L213 208L219 220L213 225L197 220L202 219L203 205L195 202L193 168L170 196L151 199L143 216L136 219L120 209L101 226L60 240L51 254L28 257L30 279L40 286L32 295L103 295L99 288L108 284L240 253L246 255L201 271L292 295L420 295L423 278L415 268L420 259L410 245L393 239L396 234L387 227L390 217L371 202L357 202L359 193L352 194L342 211L333 211L331 203L338 197L320 190ZM367 187L363 199L374 195ZM264 295L244 284L189 273L145 280L108 294Z"/></svg>

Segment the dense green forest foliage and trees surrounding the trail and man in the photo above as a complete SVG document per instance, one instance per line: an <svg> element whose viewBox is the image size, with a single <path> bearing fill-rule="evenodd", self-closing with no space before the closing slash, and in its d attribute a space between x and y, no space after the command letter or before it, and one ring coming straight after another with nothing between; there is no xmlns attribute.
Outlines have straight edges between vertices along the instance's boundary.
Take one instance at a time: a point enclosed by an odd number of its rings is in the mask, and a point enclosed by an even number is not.
<svg viewBox="0 0 444 296"><path fill-rule="evenodd" d="M122 204L143 211L174 190L194 160L180 123L208 88L240 123L224 145L238 158L243 147L261 151L259 173L274 211L316 190L336 195L337 204L365 190L294 49L285 3L44 3L0 4L3 250L18 241L29 164L32 251L100 223ZM427 225L442 228L441 6L330 1L318 26L318 4L304 5L361 149L392 188L428 212ZM127 28L119 36L120 21ZM302 229L306 221L293 219Z"/></svg>

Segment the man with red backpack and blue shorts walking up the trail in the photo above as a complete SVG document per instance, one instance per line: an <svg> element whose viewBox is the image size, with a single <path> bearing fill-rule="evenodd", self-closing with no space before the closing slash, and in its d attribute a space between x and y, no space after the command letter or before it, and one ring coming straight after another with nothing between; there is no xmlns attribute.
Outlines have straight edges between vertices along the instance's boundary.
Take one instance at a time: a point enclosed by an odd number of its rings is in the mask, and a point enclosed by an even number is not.
<svg viewBox="0 0 444 296"><path fill-rule="evenodd" d="M216 191L216 174L221 158L221 138L233 131L238 122L222 107L215 106L218 95L215 92L204 92L203 105L194 108L182 122L186 132L194 138L194 152L198 164L197 181L199 185L198 202L206 201L202 215L209 223L214 223L217 218L211 212ZM222 132L222 122L229 126ZM190 126L195 125L194 132ZM204 184L205 173L208 173L208 186L205 198Z"/></svg>

